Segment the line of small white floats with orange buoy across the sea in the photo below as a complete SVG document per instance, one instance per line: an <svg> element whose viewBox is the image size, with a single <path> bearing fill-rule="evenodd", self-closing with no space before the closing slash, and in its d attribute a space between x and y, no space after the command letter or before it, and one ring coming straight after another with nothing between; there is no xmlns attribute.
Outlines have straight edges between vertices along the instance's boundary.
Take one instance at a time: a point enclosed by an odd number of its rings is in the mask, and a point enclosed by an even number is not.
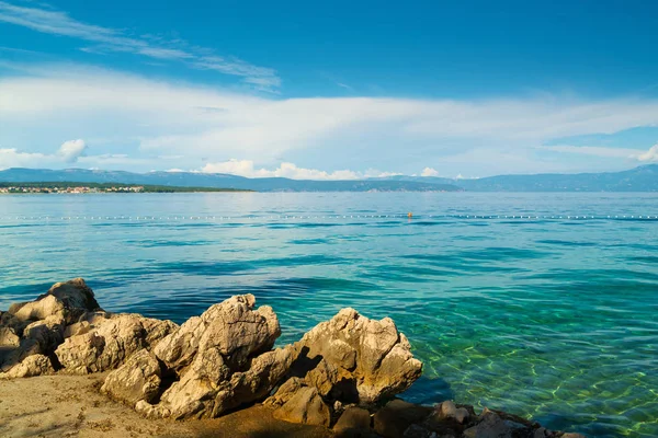
<svg viewBox="0 0 658 438"><path fill-rule="evenodd" d="M585 220L626 220L658 221L658 215L248 215L248 216L0 216L2 222L275 222L275 221L350 221L350 220L400 220L405 223L442 221L442 220L480 220L480 221L585 221Z"/></svg>

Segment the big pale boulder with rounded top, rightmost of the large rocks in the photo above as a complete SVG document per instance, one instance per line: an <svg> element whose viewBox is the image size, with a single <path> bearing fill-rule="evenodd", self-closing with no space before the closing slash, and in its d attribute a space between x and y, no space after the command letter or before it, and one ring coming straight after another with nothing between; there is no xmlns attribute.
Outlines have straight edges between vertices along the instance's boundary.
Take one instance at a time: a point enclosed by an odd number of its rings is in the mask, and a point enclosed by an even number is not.
<svg viewBox="0 0 658 438"><path fill-rule="evenodd" d="M332 388L332 399L341 401L354 395L361 403L374 403L393 396L422 371L393 320L370 320L353 309L342 309L318 324L295 347L302 358L318 366L307 371L308 383L324 395Z"/></svg>

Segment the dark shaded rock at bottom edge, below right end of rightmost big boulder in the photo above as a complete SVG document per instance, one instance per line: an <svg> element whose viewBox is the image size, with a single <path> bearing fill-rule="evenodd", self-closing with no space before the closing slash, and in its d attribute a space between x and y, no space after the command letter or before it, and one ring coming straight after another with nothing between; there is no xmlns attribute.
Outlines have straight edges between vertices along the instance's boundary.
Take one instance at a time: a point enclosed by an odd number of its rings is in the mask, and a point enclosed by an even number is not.
<svg viewBox="0 0 658 438"><path fill-rule="evenodd" d="M431 407L394 400L375 414L374 428L385 438L401 438L409 426L421 423L431 413Z"/></svg>

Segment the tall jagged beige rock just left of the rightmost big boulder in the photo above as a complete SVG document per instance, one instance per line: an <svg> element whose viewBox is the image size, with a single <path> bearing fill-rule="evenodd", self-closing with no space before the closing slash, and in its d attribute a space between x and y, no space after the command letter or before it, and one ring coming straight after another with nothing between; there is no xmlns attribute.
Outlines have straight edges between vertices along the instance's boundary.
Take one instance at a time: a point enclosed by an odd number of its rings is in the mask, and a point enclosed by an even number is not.
<svg viewBox="0 0 658 438"><path fill-rule="evenodd" d="M216 417L265 397L288 372L293 348L271 350L281 334L270 307L254 310L252 295L237 296L191 318L154 349L178 376L147 416Z"/></svg>

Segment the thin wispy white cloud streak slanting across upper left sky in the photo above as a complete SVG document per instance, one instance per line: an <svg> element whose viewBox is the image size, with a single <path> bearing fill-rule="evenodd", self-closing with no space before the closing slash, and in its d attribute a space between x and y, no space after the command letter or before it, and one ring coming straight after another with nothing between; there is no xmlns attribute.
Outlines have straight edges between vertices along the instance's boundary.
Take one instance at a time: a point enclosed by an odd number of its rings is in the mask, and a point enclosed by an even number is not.
<svg viewBox="0 0 658 438"><path fill-rule="evenodd" d="M240 77L245 83L262 91L273 92L281 87L281 79L271 68L253 66L235 57L212 55L209 49L191 48L180 39L166 41L152 35L132 36L121 30L82 23L63 11L0 1L0 22L93 43L91 47L81 48L87 53L127 53L149 59L179 61L195 69Z"/></svg>

